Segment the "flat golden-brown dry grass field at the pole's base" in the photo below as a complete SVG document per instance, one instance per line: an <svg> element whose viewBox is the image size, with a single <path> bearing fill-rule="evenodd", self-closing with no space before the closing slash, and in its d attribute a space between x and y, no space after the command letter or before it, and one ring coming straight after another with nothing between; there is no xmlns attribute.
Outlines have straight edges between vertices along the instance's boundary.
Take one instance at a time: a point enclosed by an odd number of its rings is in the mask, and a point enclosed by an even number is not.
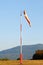
<svg viewBox="0 0 43 65"><path fill-rule="evenodd" d="M0 61L0 65L21 65L19 62L17 60ZM22 65L43 65L43 60L23 60Z"/></svg>

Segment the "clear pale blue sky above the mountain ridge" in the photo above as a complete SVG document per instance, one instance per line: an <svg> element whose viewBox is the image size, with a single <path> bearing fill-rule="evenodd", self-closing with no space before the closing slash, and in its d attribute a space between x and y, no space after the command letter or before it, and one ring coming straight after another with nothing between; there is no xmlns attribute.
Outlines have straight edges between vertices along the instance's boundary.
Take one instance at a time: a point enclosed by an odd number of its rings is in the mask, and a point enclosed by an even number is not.
<svg viewBox="0 0 43 65"><path fill-rule="evenodd" d="M24 10L31 28L24 18ZM20 46L21 12L22 45L43 44L43 0L0 0L0 51Z"/></svg>

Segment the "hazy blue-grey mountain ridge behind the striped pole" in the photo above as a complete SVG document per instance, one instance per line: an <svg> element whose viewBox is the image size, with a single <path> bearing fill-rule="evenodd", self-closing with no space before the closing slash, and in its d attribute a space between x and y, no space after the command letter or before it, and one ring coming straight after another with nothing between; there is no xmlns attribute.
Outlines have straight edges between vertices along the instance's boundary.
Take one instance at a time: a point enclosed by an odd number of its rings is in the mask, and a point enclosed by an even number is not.
<svg viewBox="0 0 43 65"><path fill-rule="evenodd" d="M24 45L23 49L23 59L31 59L36 50L43 50L43 44L36 45ZM20 46L0 51L0 58L8 58L11 60L17 59L20 55Z"/></svg>

